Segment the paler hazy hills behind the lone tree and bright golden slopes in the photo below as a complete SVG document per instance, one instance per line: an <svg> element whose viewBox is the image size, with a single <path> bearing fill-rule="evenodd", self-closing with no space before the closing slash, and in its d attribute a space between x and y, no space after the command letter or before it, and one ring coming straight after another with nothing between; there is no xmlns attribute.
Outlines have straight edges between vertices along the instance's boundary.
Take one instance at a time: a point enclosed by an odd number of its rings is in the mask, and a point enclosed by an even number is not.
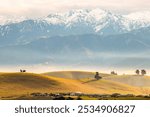
<svg viewBox="0 0 150 117"><path fill-rule="evenodd" d="M83 79L83 78L94 78L95 72L81 72L81 71L58 71L48 72L44 75L70 78L70 79ZM150 87L150 77L141 75L111 75L100 73L103 79L108 81L114 81L135 87Z"/></svg>

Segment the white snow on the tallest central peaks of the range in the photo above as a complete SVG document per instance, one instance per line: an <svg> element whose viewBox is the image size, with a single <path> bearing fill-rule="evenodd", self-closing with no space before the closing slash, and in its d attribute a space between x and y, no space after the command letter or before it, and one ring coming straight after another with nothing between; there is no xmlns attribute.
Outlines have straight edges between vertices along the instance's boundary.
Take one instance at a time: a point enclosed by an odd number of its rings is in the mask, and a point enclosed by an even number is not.
<svg viewBox="0 0 150 117"><path fill-rule="evenodd" d="M95 32L99 32L109 24L118 23L120 25L120 18L120 15L101 9L79 9L65 13L50 14L45 20L50 24L63 24L69 28L80 24L90 25Z"/></svg>

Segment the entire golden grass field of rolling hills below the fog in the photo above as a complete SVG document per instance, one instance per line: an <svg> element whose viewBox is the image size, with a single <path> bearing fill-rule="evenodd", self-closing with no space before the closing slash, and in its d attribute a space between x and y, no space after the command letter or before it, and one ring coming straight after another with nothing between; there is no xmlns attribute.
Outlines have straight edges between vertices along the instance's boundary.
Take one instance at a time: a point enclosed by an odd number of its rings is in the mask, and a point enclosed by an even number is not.
<svg viewBox="0 0 150 117"><path fill-rule="evenodd" d="M19 96L34 92L82 92L86 94L150 94L150 78L135 75L101 74L95 80L93 72L0 73L0 97ZM146 82L136 86L133 82ZM136 82L137 83L137 82ZM132 85L131 85L132 84Z"/></svg>

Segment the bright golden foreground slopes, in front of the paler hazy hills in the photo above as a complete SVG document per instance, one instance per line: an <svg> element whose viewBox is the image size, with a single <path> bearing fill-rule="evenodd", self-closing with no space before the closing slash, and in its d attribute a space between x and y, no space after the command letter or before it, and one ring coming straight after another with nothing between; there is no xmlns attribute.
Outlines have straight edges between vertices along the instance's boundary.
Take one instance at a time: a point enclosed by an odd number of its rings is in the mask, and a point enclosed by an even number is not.
<svg viewBox="0 0 150 117"><path fill-rule="evenodd" d="M0 73L0 96L32 92L144 93L139 88L107 80L95 81L91 78L76 80L30 73Z"/></svg>

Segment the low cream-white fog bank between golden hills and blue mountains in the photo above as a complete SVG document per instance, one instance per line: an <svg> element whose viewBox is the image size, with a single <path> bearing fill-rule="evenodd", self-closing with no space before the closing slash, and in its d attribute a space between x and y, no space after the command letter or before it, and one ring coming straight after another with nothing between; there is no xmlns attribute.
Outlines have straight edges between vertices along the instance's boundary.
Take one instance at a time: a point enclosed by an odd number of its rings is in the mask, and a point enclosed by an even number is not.
<svg viewBox="0 0 150 117"><path fill-rule="evenodd" d="M54 71L89 71L89 72L100 72L100 73L110 73L111 71L117 72L119 75L124 74L135 74L136 68L119 68L119 67L101 67L101 66L65 66L65 65L14 65L14 66L0 66L0 72L20 72L20 69L25 69L30 73L45 73ZM144 68L137 68L144 69ZM147 75L150 75L150 69L145 69Z"/></svg>

